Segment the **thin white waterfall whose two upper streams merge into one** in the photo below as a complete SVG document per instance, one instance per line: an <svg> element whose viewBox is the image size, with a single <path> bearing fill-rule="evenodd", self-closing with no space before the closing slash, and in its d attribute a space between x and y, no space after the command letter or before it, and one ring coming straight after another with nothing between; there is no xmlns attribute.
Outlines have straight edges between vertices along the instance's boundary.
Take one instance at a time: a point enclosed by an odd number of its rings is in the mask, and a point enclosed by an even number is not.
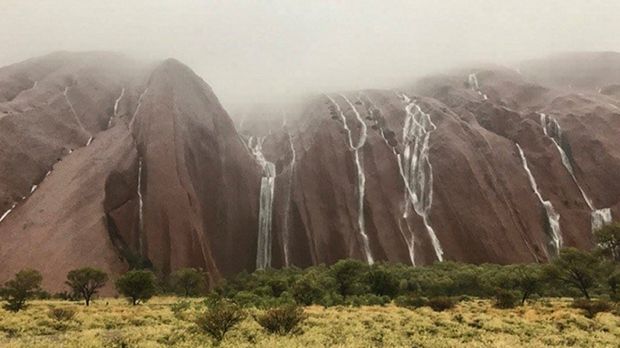
<svg viewBox="0 0 620 348"><path fill-rule="evenodd" d="M366 123L364 123L364 120L362 119L362 116L357 112L357 109L355 109L351 101L346 96L341 94L340 97L344 99L344 101L353 110L357 121L360 123L362 127L357 144L353 144L353 137L351 135L351 129L349 128L349 125L347 124L347 118L344 116L344 113L342 109L340 108L340 105L338 105L338 103L336 103L336 101L332 97L328 95L326 96L330 100L330 102L336 107L336 110L338 114L340 115L342 125L347 134L348 148L350 151L353 152L353 161L355 162L355 168L357 169L357 227L358 227L358 232L360 234L362 251L364 252L366 262L368 264L373 264L374 258L372 257L372 252L370 250L370 240L368 238L368 234L366 234L366 224L364 221L364 194L365 194L365 188L366 188L366 176L364 174L364 168L362 167L362 163L360 160L360 151L359 151L362 148L362 146L364 146L364 144L366 143L368 129L366 127Z"/></svg>

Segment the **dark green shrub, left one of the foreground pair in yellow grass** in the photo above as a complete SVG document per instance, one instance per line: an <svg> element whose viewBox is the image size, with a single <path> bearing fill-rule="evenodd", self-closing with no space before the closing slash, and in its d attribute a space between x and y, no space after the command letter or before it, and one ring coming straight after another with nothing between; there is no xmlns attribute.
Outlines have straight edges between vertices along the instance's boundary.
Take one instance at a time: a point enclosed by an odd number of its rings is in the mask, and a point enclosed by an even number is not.
<svg viewBox="0 0 620 348"><path fill-rule="evenodd" d="M196 319L196 325L218 344L228 331L245 319L245 316L245 312L239 305L228 300L221 300L200 313Z"/></svg>

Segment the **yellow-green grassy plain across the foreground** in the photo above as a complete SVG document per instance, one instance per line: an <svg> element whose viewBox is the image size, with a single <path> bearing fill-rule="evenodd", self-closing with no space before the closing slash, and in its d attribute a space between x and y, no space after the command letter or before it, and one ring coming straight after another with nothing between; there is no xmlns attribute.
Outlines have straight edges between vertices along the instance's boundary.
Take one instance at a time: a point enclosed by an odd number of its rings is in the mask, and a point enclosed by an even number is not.
<svg viewBox="0 0 620 348"><path fill-rule="evenodd" d="M24 311L0 310L1 347L211 347L193 318L199 299L158 297L131 306L99 299L90 307L66 301L33 301ZM229 332L221 347L619 347L620 317L586 318L570 300L539 299L501 310L488 300L468 300L444 312L393 305L306 307L308 319L289 336L266 333L253 319ZM70 307L74 318L51 319L52 308Z"/></svg>

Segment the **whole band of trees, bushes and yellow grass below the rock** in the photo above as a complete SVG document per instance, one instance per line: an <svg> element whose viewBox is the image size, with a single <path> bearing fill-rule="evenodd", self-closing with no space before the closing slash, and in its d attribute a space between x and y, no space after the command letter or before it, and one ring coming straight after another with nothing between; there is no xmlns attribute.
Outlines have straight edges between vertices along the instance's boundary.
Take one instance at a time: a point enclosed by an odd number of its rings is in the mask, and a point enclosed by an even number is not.
<svg viewBox="0 0 620 348"><path fill-rule="evenodd" d="M592 252L564 249L548 264L341 260L210 290L199 270L164 283L136 269L115 281L124 299L97 298L108 277L92 268L53 296L24 270L1 292L0 346L617 347L620 225L596 236Z"/></svg>

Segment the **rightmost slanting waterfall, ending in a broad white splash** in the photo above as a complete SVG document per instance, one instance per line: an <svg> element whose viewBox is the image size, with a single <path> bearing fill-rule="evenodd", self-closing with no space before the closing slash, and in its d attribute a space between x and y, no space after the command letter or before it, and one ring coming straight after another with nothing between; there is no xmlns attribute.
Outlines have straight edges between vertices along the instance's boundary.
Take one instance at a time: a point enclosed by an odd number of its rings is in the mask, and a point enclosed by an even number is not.
<svg viewBox="0 0 620 348"><path fill-rule="evenodd" d="M562 142L562 128L560 127L558 121L554 118L548 117L546 114L540 113L540 126L542 127L543 134L553 142L555 148L560 153L562 165L564 165L564 168L566 168L566 170L570 174L573 182L575 183L575 185L577 185L577 188L579 189L583 200L588 205L588 208L590 208L592 231L601 228L603 225L611 223L611 209L596 209L594 207L594 203L592 203L592 199L590 199L590 197L586 195L586 192L583 190L581 184L577 180L570 159L568 158L568 155L566 155L566 151L564 151L564 149L560 146L560 143Z"/></svg>

